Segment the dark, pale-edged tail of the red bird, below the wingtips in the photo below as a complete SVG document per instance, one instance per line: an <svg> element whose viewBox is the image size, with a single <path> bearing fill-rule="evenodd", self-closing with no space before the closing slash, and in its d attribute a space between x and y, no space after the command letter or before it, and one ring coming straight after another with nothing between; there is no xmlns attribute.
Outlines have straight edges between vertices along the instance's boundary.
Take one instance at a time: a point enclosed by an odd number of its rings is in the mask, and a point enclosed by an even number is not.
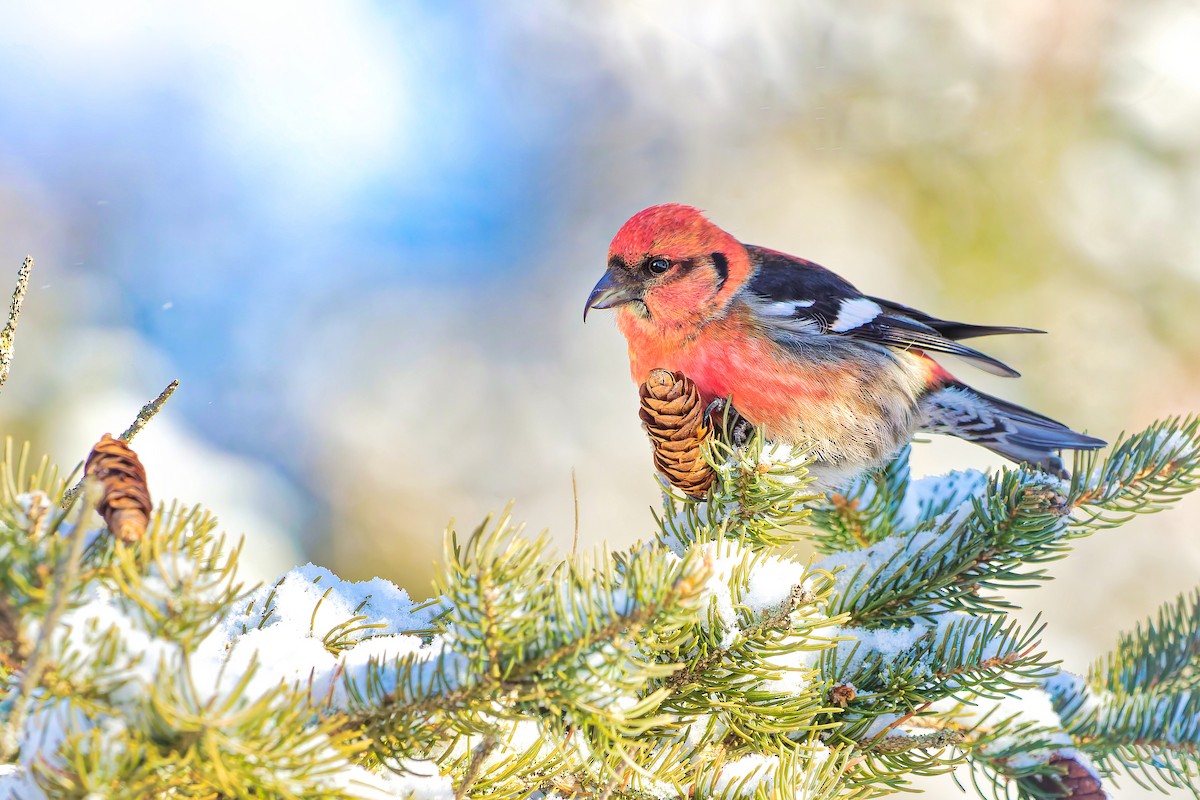
<svg viewBox="0 0 1200 800"><path fill-rule="evenodd" d="M959 383L934 390L922 401L922 431L972 441L1024 464L1066 476L1060 450L1096 450L1104 441L1075 433L1061 422Z"/></svg>

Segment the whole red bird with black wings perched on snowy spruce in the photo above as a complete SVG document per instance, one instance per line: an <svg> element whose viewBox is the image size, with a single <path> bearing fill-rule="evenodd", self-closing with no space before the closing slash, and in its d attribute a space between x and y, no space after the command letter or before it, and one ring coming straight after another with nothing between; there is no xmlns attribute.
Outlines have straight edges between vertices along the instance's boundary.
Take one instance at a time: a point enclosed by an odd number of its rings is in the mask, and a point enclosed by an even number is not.
<svg viewBox="0 0 1200 800"><path fill-rule="evenodd" d="M866 296L812 261L743 245L686 205L655 205L622 225L584 319L592 308L617 308L636 383L656 368L683 372L706 402L731 398L768 439L809 443L826 485L886 463L918 431L1058 475L1057 451L1104 445L971 389L930 357L1015 377L960 339L1042 331Z"/></svg>

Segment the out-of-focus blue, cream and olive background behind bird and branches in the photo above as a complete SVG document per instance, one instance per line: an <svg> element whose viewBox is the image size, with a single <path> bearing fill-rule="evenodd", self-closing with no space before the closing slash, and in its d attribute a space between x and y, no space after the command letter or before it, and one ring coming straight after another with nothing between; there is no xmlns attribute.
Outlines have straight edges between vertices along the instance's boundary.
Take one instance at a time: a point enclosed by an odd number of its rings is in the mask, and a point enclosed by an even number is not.
<svg viewBox="0 0 1200 800"><path fill-rule="evenodd" d="M1187 0L4 4L0 265L37 266L0 420L70 468L179 378L151 488L253 579L424 596L448 521L510 499L569 547L572 470L581 541L625 545L658 492L624 342L581 315L667 200L1051 331L970 378L1078 428L1200 410L1198 42ZM1068 667L1195 583L1198 522L1024 596Z"/></svg>

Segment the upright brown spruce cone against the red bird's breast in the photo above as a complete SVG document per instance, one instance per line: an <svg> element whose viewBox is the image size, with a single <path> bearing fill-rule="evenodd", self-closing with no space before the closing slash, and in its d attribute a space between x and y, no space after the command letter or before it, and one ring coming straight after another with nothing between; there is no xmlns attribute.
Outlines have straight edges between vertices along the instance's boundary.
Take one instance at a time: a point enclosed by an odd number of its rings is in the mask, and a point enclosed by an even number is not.
<svg viewBox="0 0 1200 800"><path fill-rule="evenodd" d="M684 494L706 497L715 475L700 449L709 428L696 384L682 373L655 369L638 393L638 416L654 446L654 465Z"/></svg>

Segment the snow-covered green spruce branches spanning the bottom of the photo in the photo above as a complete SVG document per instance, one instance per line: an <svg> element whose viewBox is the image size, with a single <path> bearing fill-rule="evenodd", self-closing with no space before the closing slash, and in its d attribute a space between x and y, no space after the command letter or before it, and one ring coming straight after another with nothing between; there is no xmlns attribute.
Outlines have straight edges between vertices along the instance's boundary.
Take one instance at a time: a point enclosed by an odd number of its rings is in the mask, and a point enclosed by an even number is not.
<svg viewBox="0 0 1200 800"><path fill-rule="evenodd" d="M1194 788L1195 594L1086 679L1008 610L1074 537L1193 488L1196 435L1166 421L1070 483L899 461L817 498L803 451L713 438L708 497L667 493L652 541L562 559L505 513L451 534L424 602L314 565L244 587L199 507L119 541L10 447L0 796L834 800L955 768L985 796Z"/></svg>

